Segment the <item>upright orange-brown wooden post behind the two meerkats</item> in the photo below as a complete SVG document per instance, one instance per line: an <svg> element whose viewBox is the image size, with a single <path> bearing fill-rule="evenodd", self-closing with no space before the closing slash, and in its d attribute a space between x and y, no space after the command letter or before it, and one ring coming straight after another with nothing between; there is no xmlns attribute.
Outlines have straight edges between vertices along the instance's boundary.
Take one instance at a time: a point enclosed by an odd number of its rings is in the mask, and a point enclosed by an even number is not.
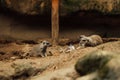
<svg viewBox="0 0 120 80"><path fill-rule="evenodd" d="M59 38L59 0L52 0L52 41L56 45Z"/></svg>

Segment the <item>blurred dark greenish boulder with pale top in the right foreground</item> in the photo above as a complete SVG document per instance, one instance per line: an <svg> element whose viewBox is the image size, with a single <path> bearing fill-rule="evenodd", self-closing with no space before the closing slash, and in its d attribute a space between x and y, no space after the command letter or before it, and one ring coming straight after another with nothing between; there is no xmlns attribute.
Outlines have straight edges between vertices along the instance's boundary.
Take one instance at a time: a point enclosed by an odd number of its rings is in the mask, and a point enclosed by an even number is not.
<svg viewBox="0 0 120 80"><path fill-rule="evenodd" d="M102 68L110 59L112 59L114 53L107 51L93 51L90 54L79 59L75 65L75 69L80 75L86 75Z"/></svg>

